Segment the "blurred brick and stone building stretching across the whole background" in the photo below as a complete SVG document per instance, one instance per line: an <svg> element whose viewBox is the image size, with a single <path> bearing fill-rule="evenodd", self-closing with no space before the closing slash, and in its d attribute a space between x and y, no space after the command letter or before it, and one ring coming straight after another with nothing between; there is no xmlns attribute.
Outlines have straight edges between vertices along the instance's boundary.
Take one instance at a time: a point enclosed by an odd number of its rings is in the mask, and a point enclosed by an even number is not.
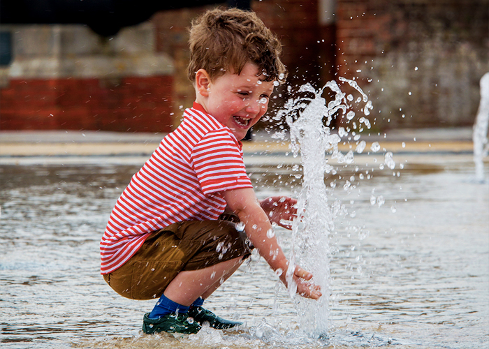
<svg viewBox="0 0 489 349"><path fill-rule="evenodd" d="M29 0L16 3L8 10L18 15ZM187 28L213 6L125 9L125 21L95 11L85 24L2 20L0 130L171 131L194 101ZM489 71L489 0L253 0L251 8L282 39L292 91L340 75L370 95L375 128L473 124ZM276 107L290 96L279 94Z"/></svg>

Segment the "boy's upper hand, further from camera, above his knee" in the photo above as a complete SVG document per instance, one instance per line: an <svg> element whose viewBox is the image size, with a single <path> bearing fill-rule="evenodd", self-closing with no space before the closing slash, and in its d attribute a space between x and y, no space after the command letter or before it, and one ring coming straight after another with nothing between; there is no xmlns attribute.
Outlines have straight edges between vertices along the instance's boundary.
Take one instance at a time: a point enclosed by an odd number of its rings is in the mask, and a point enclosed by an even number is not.
<svg viewBox="0 0 489 349"><path fill-rule="evenodd" d="M292 228L292 220L297 214L297 200L287 196L271 196L260 202L270 222L277 223L286 229Z"/></svg>

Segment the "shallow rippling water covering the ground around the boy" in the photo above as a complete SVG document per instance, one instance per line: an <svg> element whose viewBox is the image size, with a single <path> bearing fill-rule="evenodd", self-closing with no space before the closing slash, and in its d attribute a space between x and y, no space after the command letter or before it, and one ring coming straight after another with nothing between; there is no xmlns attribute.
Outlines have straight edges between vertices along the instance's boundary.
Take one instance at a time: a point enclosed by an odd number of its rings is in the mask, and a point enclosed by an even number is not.
<svg viewBox="0 0 489 349"><path fill-rule="evenodd" d="M466 157L326 179L337 184L329 202L346 213L330 239L321 339L300 332L293 301L256 254L206 302L245 325L143 335L154 301L120 297L98 272L105 223L136 170L0 165L2 348L489 348L489 185ZM293 194L300 181L287 166L248 170L261 198ZM289 232L277 237L288 250Z"/></svg>

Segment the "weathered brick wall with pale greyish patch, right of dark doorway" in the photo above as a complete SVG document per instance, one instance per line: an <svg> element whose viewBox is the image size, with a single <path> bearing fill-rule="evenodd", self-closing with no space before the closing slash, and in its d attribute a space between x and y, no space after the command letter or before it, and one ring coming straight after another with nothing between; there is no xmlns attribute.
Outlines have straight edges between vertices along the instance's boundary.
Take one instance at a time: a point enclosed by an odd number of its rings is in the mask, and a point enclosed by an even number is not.
<svg viewBox="0 0 489 349"><path fill-rule="evenodd" d="M489 71L488 0L338 0L337 68L379 128L468 126Z"/></svg>

